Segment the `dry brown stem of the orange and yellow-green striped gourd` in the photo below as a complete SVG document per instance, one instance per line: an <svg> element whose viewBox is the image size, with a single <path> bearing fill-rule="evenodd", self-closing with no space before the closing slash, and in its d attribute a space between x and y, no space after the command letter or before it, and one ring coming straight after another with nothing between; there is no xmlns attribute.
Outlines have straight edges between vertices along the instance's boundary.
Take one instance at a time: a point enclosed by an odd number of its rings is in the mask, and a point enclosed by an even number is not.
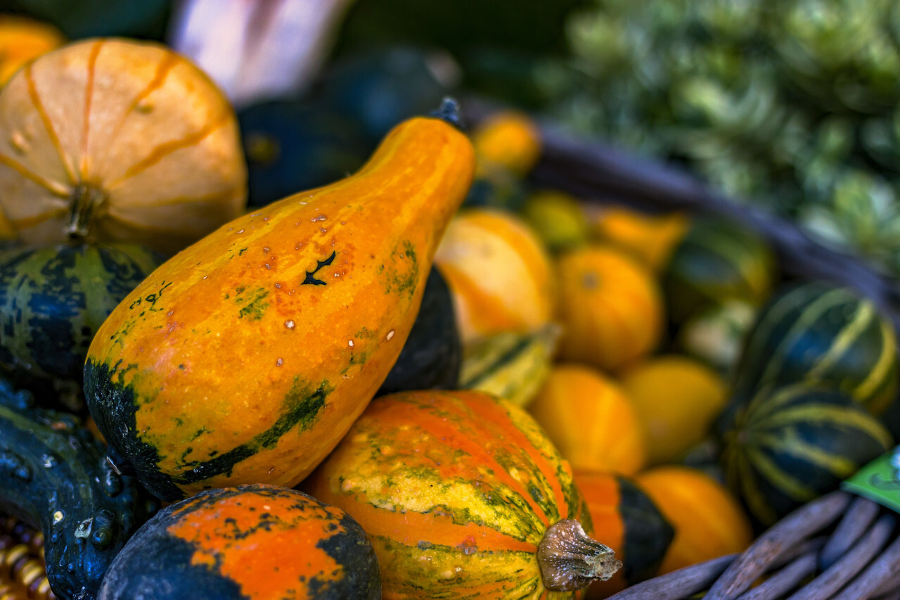
<svg viewBox="0 0 900 600"><path fill-rule="evenodd" d="M537 545L537 564L544 586L552 592L574 592L612 577L622 561L616 552L591 540L581 523L562 519L551 525Z"/></svg>

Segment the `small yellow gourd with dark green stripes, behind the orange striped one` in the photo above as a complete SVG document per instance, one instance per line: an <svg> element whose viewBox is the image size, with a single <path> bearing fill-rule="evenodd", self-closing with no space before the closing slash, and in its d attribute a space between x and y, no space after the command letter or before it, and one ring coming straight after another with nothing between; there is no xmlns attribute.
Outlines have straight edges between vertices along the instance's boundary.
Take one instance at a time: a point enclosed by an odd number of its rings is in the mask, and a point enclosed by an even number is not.
<svg viewBox="0 0 900 600"><path fill-rule="evenodd" d="M460 388L527 406L550 374L559 337L559 325L551 323L534 332L502 332L473 342L464 349Z"/></svg>

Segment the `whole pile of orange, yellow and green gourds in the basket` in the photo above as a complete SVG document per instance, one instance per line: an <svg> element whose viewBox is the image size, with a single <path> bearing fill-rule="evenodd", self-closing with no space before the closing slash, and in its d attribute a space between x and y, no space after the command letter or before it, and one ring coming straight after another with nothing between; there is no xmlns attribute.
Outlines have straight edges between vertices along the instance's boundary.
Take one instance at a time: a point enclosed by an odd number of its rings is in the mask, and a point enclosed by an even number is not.
<svg viewBox="0 0 900 600"><path fill-rule="evenodd" d="M868 301L773 292L734 225L528 189L523 115L460 128L446 101L246 210L235 115L165 47L4 85L0 510L57 597L608 595L887 449Z"/></svg>

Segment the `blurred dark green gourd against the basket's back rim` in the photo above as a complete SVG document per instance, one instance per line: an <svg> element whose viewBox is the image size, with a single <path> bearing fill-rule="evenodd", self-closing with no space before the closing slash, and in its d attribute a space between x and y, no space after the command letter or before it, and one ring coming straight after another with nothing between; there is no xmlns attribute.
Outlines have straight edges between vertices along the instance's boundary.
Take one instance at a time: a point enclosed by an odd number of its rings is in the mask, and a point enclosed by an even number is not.
<svg viewBox="0 0 900 600"><path fill-rule="evenodd" d="M743 300L761 305L775 280L768 243L741 225L698 218L662 272L668 314L684 323L710 305Z"/></svg>

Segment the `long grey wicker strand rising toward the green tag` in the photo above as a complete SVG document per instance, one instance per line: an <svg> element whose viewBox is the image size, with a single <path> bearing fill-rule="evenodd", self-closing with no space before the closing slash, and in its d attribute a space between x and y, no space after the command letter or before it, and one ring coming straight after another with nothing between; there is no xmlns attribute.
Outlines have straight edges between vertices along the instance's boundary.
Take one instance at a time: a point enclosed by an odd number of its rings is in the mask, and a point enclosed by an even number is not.
<svg viewBox="0 0 900 600"><path fill-rule="evenodd" d="M779 554L812 533L833 523L850 505L851 495L840 490L810 502L770 527L725 569L709 588L705 600L731 600L743 594Z"/></svg>

